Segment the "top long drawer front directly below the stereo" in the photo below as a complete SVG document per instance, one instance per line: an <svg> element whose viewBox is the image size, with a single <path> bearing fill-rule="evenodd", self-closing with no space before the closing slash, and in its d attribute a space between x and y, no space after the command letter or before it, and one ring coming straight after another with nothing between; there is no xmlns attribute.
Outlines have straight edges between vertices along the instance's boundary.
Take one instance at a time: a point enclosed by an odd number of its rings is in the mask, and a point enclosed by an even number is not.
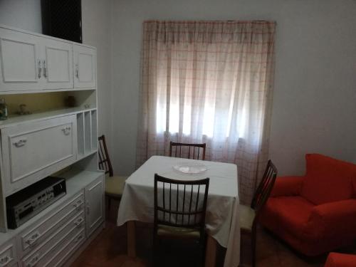
<svg viewBox="0 0 356 267"><path fill-rule="evenodd" d="M36 227L26 229L19 235L21 236L21 255L25 255L36 249L43 241L66 224L69 219L83 212L83 210L84 194L81 191L69 202L56 209L56 212L53 212L45 219L41 219L41 222L37 222L35 224Z"/></svg>

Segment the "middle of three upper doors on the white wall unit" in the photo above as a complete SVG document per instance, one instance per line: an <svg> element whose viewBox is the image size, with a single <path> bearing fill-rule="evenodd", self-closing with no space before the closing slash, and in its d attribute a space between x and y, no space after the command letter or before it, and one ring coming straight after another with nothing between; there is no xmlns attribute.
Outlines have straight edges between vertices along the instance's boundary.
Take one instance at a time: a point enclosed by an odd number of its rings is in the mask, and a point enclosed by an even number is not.
<svg viewBox="0 0 356 267"><path fill-rule="evenodd" d="M57 40L42 38L43 89L73 88L73 46Z"/></svg>

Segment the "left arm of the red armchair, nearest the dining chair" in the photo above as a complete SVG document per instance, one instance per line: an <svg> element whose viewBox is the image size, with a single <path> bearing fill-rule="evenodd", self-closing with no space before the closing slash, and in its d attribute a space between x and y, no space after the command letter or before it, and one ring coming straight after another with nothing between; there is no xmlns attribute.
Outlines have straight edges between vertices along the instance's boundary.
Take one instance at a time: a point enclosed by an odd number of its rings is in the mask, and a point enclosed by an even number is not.
<svg viewBox="0 0 356 267"><path fill-rule="evenodd" d="M271 197L298 196L300 195L303 181L303 176L277 177L271 192Z"/></svg>

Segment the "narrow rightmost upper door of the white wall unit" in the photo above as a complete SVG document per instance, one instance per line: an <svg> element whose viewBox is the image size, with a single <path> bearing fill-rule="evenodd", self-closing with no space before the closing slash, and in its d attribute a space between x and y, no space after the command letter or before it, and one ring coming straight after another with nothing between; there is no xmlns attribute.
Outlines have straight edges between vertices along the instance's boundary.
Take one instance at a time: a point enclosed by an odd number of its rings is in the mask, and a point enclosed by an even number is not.
<svg viewBox="0 0 356 267"><path fill-rule="evenodd" d="M95 88L96 52L94 48L73 46L74 88Z"/></svg>

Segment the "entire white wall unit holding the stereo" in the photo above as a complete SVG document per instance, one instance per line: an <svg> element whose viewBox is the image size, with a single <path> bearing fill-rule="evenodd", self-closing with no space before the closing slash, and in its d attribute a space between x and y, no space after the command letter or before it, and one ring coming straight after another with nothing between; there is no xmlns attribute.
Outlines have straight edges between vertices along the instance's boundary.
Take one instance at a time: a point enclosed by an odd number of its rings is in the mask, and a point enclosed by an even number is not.
<svg viewBox="0 0 356 267"><path fill-rule="evenodd" d="M68 93L53 93L61 90ZM51 94L77 104L21 116L10 110L0 122L0 267L68 266L103 228L96 90L95 48L0 25L0 95L8 106L19 105L12 95L26 104L24 95L37 93L50 104ZM66 179L66 195L9 229L6 198L48 176Z"/></svg>

